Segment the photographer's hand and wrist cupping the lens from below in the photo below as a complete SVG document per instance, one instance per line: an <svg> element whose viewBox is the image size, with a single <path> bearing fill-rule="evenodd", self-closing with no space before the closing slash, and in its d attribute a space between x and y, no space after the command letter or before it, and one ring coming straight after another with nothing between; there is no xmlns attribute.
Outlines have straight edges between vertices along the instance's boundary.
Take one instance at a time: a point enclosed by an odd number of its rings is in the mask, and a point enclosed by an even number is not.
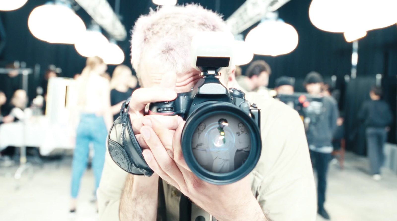
<svg viewBox="0 0 397 221"><path fill-rule="evenodd" d="M220 221L266 220L251 192L248 177L229 185L213 185L191 172L181 149L184 124L180 124L175 133L153 116L146 118L143 124L141 135L149 147L143 156L163 180Z"/></svg>

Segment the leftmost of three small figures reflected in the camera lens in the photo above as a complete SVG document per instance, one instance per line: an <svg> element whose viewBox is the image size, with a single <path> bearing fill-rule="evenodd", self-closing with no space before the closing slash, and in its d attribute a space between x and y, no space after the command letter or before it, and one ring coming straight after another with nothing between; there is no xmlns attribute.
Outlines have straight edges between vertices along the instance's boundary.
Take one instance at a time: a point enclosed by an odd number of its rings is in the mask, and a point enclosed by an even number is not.
<svg viewBox="0 0 397 221"><path fill-rule="evenodd" d="M206 128L205 123L201 123L198 125L197 131L193 134L193 155L195 156L198 164L200 166L207 166L208 165L208 154L207 154L207 147L204 146L204 137L205 133L204 130Z"/></svg>

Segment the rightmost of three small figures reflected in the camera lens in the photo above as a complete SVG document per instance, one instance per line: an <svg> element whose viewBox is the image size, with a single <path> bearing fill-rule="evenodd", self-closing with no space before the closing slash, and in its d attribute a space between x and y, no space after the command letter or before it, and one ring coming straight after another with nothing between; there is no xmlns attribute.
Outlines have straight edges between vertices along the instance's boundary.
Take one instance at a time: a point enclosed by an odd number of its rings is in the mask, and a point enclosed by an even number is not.
<svg viewBox="0 0 397 221"><path fill-rule="evenodd" d="M235 147L237 149L236 154L234 156L234 169L241 167L244 162L247 160L249 156L249 152L251 151L251 140L250 136L247 133L245 126L242 122L238 124L239 130L237 134L237 141Z"/></svg>

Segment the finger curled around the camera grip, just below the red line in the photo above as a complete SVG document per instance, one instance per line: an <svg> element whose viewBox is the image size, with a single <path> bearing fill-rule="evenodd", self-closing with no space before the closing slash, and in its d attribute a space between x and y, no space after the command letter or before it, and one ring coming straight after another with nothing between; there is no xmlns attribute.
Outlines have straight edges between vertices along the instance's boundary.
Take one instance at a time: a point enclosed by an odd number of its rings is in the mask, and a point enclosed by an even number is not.
<svg viewBox="0 0 397 221"><path fill-rule="evenodd" d="M156 119L160 124L164 126L164 128L168 130L176 130L179 126L179 122L181 122L182 118L180 116L164 116L164 115L146 115L140 118L136 118L131 121L131 126L135 134L141 133L141 128L144 126L143 121L148 118ZM150 126L150 125L147 125Z"/></svg>

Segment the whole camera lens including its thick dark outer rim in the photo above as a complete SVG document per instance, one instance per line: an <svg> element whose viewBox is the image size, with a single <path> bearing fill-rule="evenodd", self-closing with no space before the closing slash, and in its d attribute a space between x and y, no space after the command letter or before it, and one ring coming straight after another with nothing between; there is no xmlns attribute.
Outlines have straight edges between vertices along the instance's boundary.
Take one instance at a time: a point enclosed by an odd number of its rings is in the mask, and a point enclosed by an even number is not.
<svg viewBox="0 0 397 221"><path fill-rule="evenodd" d="M208 102L189 114L181 143L191 171L217 185L247 176L259 160L262 145L254 120L225 102Z"/></svg>

